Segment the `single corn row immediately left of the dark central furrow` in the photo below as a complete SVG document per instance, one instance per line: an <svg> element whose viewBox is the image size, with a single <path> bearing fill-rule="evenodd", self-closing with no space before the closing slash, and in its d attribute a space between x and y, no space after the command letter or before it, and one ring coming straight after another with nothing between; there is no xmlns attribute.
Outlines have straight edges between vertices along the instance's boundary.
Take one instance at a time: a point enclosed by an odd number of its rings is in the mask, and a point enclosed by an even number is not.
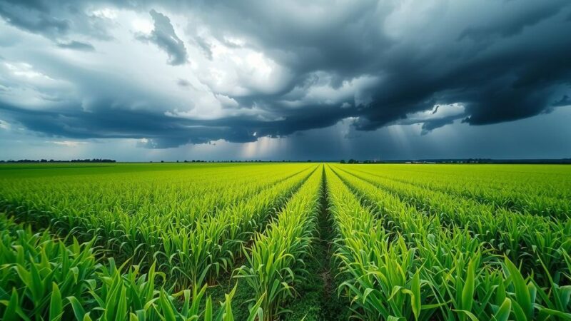
<svg viewBox="0 0 571 321"><path fill-rule="evenodd" d="M261 300L265 320L274 320L283 310L282 303L295 295L295 283L306 272L303 258L310 250L315 235L322 170L313 173L298 190L265 233L256 233L251 248L244 248L248 265L236 270Z"/></svg>

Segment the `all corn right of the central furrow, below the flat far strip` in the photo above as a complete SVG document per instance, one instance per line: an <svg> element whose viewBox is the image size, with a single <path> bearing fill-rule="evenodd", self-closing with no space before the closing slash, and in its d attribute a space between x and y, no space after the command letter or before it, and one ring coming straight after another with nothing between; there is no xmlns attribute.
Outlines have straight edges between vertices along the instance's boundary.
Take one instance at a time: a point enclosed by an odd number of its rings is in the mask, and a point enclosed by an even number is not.
<svg viewBox="0 0 571 321"><path fill-rule="evenodd" d="M345 216L370 222L350 225L353 232L341 233L346 236L338 242L340 264L350 274L340 294L353 297L357 317L571 317L567 300L571 290L565 285L570 281L570 265L565 259L570 245L568 221L505 208L494 210L473 200L365 173L354 165L330 168L328 182L330 207L338 215L339 225ZM350 214L344 216L343 212ZM371 230L378 235L370 237ZM557 237L545 237L554 233ZM500 243L495 238L511 242ZM550 265L543 263L544 258L550 259ZM397 271L399 277L394 276ZM547 285L545 280L549 280ZM371 297L378 300L370 304Z"/></svg>

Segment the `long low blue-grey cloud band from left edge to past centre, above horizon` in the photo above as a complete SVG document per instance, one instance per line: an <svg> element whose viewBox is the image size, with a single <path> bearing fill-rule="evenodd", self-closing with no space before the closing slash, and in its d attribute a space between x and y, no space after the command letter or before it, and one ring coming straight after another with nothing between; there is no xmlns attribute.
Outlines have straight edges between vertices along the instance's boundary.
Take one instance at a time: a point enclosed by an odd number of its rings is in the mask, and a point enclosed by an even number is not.
<svg viewBox="0 0 571 321"><path fill-rule="evenodd" d="M256 141L261 136L288 136L296 131L332 126L346 115L292 115L282 121L265 122L248 118L196 121L150 111L113 109L103 103L96 111L64 107L59 111L25 111L0 105L4 116L31 131L66 138L146 138L140 146L170 148L186 143L208 143L223 139L233 143ZM256 136L253 133L256 132Z"/></svg>

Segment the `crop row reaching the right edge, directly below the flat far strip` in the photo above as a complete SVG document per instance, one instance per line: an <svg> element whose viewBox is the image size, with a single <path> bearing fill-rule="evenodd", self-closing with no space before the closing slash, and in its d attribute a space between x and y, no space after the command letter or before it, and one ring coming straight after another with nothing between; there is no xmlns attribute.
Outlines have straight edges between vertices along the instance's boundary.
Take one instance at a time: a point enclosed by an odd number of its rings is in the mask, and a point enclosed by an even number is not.
<svg viewBox="0 0 571 321"><path fill-rule="evenodd" d="M342 168L338 168L338 173L350 185L359 186L358 190L366 193L368 199L392 200L392 204L400 200L410 205L409 213L428 213L447 225L466 228L498 253L514 262L522 260L527 270L536 270L540 276L545 275L545 265L558 282L566 269L562 255L571 251L571 220L495 209L474 200ZM548 282L547 277L543 280Z"/></svg>

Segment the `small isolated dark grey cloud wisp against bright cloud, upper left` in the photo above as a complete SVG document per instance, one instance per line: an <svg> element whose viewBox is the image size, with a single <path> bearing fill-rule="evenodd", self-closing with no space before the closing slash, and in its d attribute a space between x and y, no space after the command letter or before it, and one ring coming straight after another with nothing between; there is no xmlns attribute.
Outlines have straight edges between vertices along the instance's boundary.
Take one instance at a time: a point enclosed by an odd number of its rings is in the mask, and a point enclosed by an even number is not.
<svg viewBox="0 0 571 321"><path fill-rule="evenodd" d="M188 56L181 39L176 36L171 19L155 10L149 12L153 17L155 29L149 36L138 36L138 39L150 41L168 54L168 63L176 66L186 63Z"/></svg>

